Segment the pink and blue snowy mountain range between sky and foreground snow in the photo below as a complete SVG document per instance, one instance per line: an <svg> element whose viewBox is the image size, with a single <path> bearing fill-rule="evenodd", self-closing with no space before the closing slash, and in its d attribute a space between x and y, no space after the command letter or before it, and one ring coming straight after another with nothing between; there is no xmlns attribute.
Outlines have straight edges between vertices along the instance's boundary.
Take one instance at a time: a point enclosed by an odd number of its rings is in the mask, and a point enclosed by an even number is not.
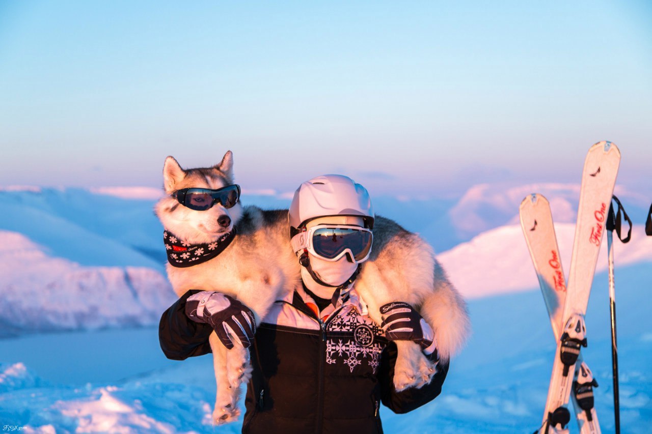
<svg viewBox="0 0 652 434"><path fill-rule="evenodd" d="M518 205L533 192L550 200L568 270L576 185L482 184L459 199L381 196L374 207L428 240L452 282L477 298L537 287L518 225ZM163 228L153 213L160 194L139 187L1 189L0 335L155 323L175 298L164 272ZM652 261L652 237L642 229L649 203L617 194L636 224L630 244L616 243L617 264ZM243 192L244 205L265 209L288 207L290 199L273 190ZM603 251L598 270L604 268Z"/></svg>

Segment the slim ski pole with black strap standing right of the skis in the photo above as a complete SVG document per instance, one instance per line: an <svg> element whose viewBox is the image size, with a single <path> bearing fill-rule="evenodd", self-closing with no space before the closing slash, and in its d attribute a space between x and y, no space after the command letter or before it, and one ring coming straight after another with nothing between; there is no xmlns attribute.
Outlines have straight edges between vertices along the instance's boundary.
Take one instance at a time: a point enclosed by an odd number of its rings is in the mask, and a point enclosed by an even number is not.
<svg viewBox="0 0 652 434"><path fill-rule="evenodd" d="M618 386L618 345L616 341L616 328L615 328L615 282L614 282L614 230L618 235L618 238L623 242L629 242L632 237L632 221L629 219L627 212L623 208L623 205L620 203L617 197L614 196L614 201L618 207L618 210L614 212L614 205L610 203L609 205L609 214L606 222L607 229L607 248L609 250L609 310L611 313L611 329L612 329L612 369L614 375L614 421L615 421L615 432L620 434L620 398L619 398L619 386ZM629 223L629 232L627 237L623 239L621 237L622 229L622 219L627 220Z"/></svg>

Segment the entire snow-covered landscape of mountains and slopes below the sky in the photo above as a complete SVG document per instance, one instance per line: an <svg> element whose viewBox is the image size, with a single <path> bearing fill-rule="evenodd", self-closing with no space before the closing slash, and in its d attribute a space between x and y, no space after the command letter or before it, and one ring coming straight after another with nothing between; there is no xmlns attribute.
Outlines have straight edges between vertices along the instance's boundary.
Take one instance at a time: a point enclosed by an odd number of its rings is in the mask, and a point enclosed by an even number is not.
<svg viewBox="0 0 652 434"><path fill-rule="evenodd" d="M387 432L537 428L555 347L518 225L518 205L532 192L551 203L568 270L577 186L482 185L456 200L375 199L379 214L421 233L441 252L452 282L469 298L474 329L434 403L409 414L381 408ZM0 339L0 421L8 429L240 432L237 423L211 425L212 358L175 362L158 347L158 315L175 298L164 277L162 227L152 212L159 194L148 188L0 191L0 336L33 332ZM636 224L629 244L615 242L621 421L623 432L647 433L652 237L641 226L645 198L617 194ZM278 208L289 197L245 190L243 202ZM607 433L614 422L605 268L603 251L587 310L589 347L582 352L600 383L596 407ZM57 330L73 331L35 333Z"/></svg>

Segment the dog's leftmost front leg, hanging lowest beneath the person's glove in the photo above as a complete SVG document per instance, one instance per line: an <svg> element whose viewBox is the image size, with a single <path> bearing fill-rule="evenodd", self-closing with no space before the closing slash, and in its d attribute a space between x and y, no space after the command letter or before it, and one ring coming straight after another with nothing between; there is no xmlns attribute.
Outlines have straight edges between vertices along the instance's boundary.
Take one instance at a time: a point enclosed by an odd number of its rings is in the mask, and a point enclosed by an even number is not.
<svg viewBox="0 0 652 434"><path fill-rule="evenodd" d="M229 350L224 347L215 332L211 333L209 342L213 351L213 368L215 368L215 383L217 385L213 422L216 425L227 424L237 420L240 415L240 409L237 407L239 390L233 388L229 382L227 373Z"/></svg>

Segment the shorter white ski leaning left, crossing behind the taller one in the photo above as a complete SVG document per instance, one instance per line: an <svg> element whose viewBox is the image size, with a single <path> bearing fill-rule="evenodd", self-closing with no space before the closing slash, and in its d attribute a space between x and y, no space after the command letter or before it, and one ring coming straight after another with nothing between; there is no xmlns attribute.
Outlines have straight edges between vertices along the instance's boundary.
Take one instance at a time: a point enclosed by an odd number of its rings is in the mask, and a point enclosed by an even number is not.
<svg viewBox="0 0 652 434"><path fill-rule="evenodd" d="M558 341L566 300L566 279L548 199L541 194L527 196L519 207L519 215L527 248L539 278L541 293L548 308L552 332L555 341ZM591 370L584 362L574 373L572 402L582 434L600 433L598 417L593 406L593 387L597 386L597 382L592 376L589 378L590 374Z"/></svg>

